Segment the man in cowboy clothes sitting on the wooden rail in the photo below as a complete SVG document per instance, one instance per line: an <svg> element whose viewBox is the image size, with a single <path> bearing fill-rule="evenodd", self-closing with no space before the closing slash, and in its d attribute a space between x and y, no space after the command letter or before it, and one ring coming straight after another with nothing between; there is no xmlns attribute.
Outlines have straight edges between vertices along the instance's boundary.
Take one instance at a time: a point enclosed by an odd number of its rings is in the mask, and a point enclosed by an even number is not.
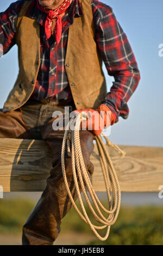
<svg viewBox="0 0 163 256"><path fill-rule="evenodd" d="M93 138L118 117L126 119L127 105L140 80L140 72L126 34L108 5L98 0L20 0L0 14L3 53L18 46L19 74L0 112L1 138L45 140L53 153L52 169L39 202L23 225L23 245L52 245L62 218L71 208L61 170L64 129L53 130L55 111L68 106L100 115L104 125L92 130L85 123L80 143L89 176ZM102 70L115 81L106 92ZM82 109L82 110L81 110ZM90 115L91 117L91 115ZM97 116L96 116L97 117ZM70 190L77 199L66 157Z"/></svg>

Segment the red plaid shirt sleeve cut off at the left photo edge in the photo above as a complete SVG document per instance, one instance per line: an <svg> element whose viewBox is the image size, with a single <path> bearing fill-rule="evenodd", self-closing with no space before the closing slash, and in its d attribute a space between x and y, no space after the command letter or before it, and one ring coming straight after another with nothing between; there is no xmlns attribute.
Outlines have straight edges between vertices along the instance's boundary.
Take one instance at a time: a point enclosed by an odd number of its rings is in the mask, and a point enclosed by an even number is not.
<svg viewBox="0 0 163 256"><path fill-rule="evenodd" d="M3 54L15 45L17 17L23 3L24 1L12 3L7 10L0 13L0 44L3 46Z"/></svg>

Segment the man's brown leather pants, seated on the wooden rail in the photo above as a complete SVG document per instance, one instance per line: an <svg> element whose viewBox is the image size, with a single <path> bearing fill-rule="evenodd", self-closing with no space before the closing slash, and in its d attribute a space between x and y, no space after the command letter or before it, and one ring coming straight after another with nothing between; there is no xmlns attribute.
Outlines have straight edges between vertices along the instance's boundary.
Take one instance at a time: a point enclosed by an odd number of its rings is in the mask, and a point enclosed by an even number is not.
<svg viewBox="0 0 163 256"><path fill-rule="evenodd" d="M60 231L62 218L71 208L61 170L61 146L64 130L54 131L52 113L64 112L60 105L50 106L33 103L16 111L0 112L1 138L44 139L53 152L52 169L47 186L39 202L23 225L23 245L52 245ZM89 176L93 174L90 154L93 150L93 135L89 131L80 131L80 143L84 162ZM74 188L71 158L65 154L65 167L68 184L74 200L77 193Z"/></svg>

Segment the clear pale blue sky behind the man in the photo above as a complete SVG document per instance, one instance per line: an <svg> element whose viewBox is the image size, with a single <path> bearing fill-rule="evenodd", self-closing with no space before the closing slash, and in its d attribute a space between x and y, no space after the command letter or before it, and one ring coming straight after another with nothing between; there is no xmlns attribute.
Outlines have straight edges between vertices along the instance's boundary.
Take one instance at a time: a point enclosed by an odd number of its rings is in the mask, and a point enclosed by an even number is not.
<svg viewBox="0 0 163 256"><path fill-rule="evenodd" d="M14 1L0 3L0 11ZM140 72L139 87L128 102L127 120L119 119L111 127L110 139L117 144L163 147L163 57L159 57L159 44L163 44L162 0L108 0L127 34ZM17 47L0 59L0 107L14 85L18 73ZM112 78L104 68L108 90Z"/></svg>

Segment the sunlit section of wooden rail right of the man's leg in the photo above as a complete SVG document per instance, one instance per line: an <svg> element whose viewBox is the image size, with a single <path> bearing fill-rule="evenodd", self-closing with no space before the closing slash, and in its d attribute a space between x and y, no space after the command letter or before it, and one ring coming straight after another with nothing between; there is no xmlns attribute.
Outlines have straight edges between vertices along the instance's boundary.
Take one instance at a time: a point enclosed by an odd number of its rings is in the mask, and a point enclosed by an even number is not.
<svg viewBox="0 0 163 256"><path fill-rule="evenodd" d="M121 159L111 148L108 151L114 163L121 190L128 192L158 191L159 186L163 185L163 148L120 147L127 153L124 159ZM97 166L92 182L96 191L103 191L104 181L97 158L97 155L96 159L92 158L93 163Z"/></svg>

